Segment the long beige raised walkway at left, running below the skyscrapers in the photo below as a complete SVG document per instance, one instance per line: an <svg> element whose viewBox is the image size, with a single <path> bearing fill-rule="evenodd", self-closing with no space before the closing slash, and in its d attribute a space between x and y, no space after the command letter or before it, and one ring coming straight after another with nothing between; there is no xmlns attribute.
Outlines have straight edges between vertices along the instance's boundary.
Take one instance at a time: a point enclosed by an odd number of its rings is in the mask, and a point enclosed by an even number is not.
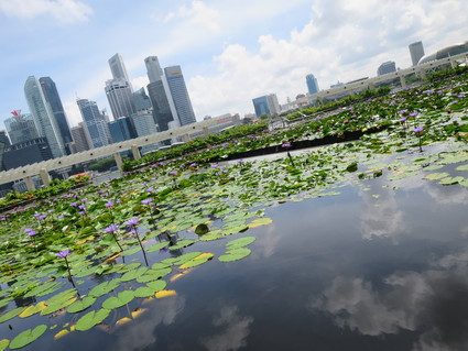
<svg viewBox="0 0 468 351"><path fill-rule="evenodd" d="M123 142L110 144L107 146L96 147L88 151L79 152L76 154L52 158L34 164L25 165L22 167L0 172L0 184L24 179L28 190L35 188L33 177L40 176L44 186L51 183L48 172L66 168L79 163L89 162L96 158L106 156L113 156L119 168L122 167L121 152L131 151L134 160L141 158L140 146L157 143L167 139L183 138L184 141L191 140L191 134L203 133L205 136L209 135L209 127L216 125L222 118L213 118L202 122L183 125L177 129L157 132L154 134L140 136Z"/></svg>

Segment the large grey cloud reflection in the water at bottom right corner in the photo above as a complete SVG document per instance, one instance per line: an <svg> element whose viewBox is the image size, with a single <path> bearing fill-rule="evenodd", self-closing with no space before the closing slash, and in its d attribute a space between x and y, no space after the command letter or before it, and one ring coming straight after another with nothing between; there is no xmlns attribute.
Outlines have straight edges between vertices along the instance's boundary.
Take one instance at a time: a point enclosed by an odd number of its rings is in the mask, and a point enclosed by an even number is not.
<svg viewBox="0 0 468 351"><path fill-rule="evenodd" d="M412 350L468 349L468 248L436 260L421 273L398 272L383 284L338 276L308 307L335 325L366 336L418 331Z"/></svg>

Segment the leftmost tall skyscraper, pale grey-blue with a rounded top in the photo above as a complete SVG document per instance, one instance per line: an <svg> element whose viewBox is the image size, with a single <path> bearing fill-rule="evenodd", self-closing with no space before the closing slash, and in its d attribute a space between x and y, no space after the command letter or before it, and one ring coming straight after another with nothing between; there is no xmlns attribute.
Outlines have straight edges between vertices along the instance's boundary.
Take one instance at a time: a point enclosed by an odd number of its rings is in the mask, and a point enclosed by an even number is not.
<svg viewBox="0 0 468 351"><path fill-rule="evenodd" d="M65 155L65 147L61 136L58 123L46 101L41 84L34 76L30 76L24 84L24 96L34 118L40 136L45 136L54 157Z"/></svg>

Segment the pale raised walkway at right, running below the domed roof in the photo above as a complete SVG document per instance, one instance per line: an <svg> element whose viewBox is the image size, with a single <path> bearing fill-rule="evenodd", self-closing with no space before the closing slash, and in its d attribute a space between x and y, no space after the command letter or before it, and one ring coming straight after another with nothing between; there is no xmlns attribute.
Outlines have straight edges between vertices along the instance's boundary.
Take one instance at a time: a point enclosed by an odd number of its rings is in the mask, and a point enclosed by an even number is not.
<svg viewBox="0 0 468 351"><path fill-rule="evenodd" d="M297 106L304 106L304 105L309 105L313 101L316 101L316 100L320 101L324 98L333 97L333 96L339 95L339 94L355 94L356 91L362 90L362 89L368 89L368 88L373 89L373 88L376 88L376 85L378 83L392 80L392 79L395 79L395 78L400 79L401 87L403 89L406 89L407 84L406 84L405 77L409 76L409 75L416 74L422 79L425 79L427 72L431 70L431 69L437 68L437 67L443 66L443 65L451 65L451 67L455 67L460 62L466 63L467 61L468 61L468 53L462 53L462 54L449 56L449 57L446 57L446 58L428 62L428 63L423 64L423 65L418 65L418 66L414 66L414 67L388 73L388 74L384 74L384 75L381 75L381 76L378 76L378 77L361 79L361 80L358 80L358 81L355 81L355 83L348 83L348 84L340 86L340 87L320 90L320 91L318 91L314 95L309 95L309 96L296 99L295 103Z"/></svg>

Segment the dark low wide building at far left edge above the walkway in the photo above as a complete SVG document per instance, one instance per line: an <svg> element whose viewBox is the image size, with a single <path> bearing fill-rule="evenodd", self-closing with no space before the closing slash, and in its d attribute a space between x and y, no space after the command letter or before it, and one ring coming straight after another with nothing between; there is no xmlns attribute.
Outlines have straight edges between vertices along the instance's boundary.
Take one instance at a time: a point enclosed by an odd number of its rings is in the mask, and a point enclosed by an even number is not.
<svg viewBox="0 0 468 351"><path fill-rule="evenodd" d="M47 140L45 138L35 138L6 147L3 165L8 171L51 158L53 158L53 155Z"/></svg>

